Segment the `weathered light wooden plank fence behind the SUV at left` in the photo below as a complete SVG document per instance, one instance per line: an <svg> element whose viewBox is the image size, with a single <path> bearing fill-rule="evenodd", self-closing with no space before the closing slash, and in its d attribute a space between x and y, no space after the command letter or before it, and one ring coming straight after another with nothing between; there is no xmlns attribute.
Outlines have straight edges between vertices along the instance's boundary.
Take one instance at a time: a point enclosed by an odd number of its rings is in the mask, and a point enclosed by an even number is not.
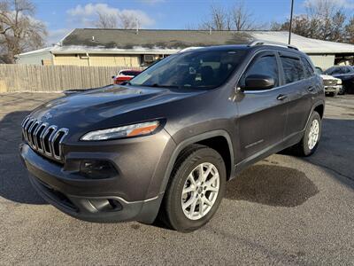
<svg viewBox="0 0 354 266"><path fill-rule="evenodd" d="M124 68L127 67L0 65L0 92L97 88L112 84L112 75Z"/></svg>

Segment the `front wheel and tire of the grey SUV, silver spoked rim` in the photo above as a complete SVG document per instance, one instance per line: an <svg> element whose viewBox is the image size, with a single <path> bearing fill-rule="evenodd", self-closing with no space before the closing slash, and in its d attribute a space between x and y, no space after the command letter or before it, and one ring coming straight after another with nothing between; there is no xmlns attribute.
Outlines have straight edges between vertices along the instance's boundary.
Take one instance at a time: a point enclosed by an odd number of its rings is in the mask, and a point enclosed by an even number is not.
<svg viewBox="0 0 354 266"><path fill-rule="evenodd" d="M226 177L225 163L218 152L204 145L190 145L174 165L160 220L176 231L189 232L202 227L219 208Z"/></svg>

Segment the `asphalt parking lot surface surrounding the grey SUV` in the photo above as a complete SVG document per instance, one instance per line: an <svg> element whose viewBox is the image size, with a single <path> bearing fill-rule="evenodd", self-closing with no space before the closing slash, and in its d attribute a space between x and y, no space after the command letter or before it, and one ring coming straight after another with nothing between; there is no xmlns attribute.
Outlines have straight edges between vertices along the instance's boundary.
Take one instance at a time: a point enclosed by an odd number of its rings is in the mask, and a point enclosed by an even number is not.
<svg viewBox="0 0 354 266"><path fill-rule="evenodd" d="M86 223L32 189L20 122L59 94L0 94L0 264L354 264L354 96L327 98L311 158L276 154L227 184L204 228Z"/></svg>

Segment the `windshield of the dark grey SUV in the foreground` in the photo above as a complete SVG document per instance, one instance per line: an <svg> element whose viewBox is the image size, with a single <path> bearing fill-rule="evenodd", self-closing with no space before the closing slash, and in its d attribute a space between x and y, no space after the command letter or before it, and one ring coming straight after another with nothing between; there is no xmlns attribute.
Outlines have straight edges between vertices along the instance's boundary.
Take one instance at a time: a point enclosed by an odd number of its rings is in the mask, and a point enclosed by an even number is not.
<svg viewBox="0 0 354 266"><path fill-rule="evenodd" d="M240 49L188 51L174 54L136 76L131 85L214 89L241 63Z"/></svg>

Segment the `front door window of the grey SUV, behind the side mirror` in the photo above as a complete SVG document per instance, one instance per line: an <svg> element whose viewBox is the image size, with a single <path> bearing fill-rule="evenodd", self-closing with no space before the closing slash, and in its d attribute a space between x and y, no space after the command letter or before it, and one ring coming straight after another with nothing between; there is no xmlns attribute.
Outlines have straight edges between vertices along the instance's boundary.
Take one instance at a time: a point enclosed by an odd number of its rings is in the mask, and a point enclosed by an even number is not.
<svg viewBox="0 0 354 266"><path fill-rule="evenodd" d="M274 87L279 86L278 64L275 56L266 55L254 59L246 72L242 75L240 86L244 87L245 79L251 74L264 74L274 79Z"/></svg>

